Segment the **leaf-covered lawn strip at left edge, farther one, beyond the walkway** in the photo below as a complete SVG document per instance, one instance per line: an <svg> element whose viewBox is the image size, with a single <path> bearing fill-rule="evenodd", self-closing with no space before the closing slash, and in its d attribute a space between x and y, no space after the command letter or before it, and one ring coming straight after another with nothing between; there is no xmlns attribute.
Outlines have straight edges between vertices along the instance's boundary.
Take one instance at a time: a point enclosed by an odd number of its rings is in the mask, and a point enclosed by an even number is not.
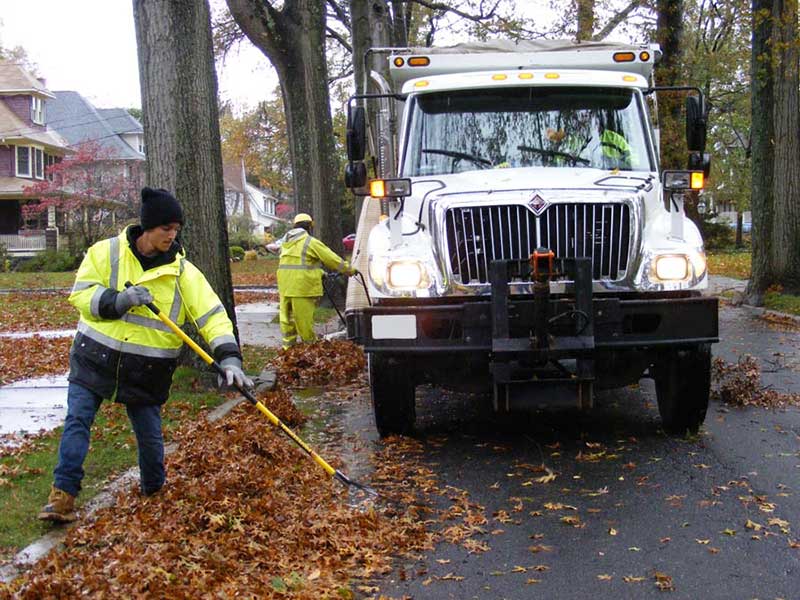
<svg viewBox="0 0 800 600"><path fill-rule="evenodd" d="M72 329L78 312L67 302L66 293L30 292L0 296L0 331Z"/></svg>

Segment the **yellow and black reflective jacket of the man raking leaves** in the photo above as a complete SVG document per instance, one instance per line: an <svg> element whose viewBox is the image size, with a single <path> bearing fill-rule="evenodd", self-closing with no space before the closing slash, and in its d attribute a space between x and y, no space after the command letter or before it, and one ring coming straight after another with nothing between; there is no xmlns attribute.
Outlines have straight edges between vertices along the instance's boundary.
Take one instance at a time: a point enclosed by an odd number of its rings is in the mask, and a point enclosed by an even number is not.
<svg viewBox="0 0 800 600"><path fill-rule="evenodd" d="M178 325L188 311L218 360L220 351L238 355L233 324L200 270L182 252L172 262L143 270L124 230L89 248L78 268L69 295L80 313L70 381L104 398L116 392L120 402L166 401L183 342L146 306L133 307L119 318L102 314L102 306L126 281L150 290L154 304Z"/></svg>

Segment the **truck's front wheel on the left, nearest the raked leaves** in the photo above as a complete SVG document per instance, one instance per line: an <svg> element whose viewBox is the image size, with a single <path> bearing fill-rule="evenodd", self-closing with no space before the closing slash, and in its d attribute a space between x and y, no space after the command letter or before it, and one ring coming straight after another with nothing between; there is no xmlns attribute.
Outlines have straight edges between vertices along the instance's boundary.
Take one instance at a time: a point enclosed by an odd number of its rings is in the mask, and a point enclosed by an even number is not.
<svg viewBox="0 0 800 600"><path fill-rule="evenodd" d="M381 437L414 431L414 381L403 364L369 355L369 383L375 426Z"/></svg>

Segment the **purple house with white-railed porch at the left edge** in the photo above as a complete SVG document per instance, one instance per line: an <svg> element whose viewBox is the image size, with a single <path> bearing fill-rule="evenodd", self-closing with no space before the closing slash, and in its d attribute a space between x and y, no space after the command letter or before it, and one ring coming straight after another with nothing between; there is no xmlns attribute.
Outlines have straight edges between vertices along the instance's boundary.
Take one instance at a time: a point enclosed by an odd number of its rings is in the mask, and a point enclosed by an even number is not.
<svg viewBox="0 0 800 600"><path fill-rule="evenodd" d="M26 224L22 211L25 203L37 201L24 188L44 180L47 168L69 151L67 141L48 125L54 98L43 79L0 60L0 244L12 256L58 245L54 214L44 223Z"/></svg>

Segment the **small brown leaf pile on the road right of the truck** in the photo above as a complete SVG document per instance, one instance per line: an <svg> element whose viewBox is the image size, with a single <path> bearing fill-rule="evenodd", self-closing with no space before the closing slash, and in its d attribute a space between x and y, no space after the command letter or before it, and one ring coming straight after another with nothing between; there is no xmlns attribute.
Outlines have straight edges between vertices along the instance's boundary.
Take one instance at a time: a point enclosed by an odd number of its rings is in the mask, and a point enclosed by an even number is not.
<svg viewBox="0 0 800 600"><path fill-rule="evenodd" d="M800 394L783 394L763 386L758 359L749 354L739 357L735 364L715 358L712 380L717 383L712 397L733 406L775 408L800 404Z"/></svg>

